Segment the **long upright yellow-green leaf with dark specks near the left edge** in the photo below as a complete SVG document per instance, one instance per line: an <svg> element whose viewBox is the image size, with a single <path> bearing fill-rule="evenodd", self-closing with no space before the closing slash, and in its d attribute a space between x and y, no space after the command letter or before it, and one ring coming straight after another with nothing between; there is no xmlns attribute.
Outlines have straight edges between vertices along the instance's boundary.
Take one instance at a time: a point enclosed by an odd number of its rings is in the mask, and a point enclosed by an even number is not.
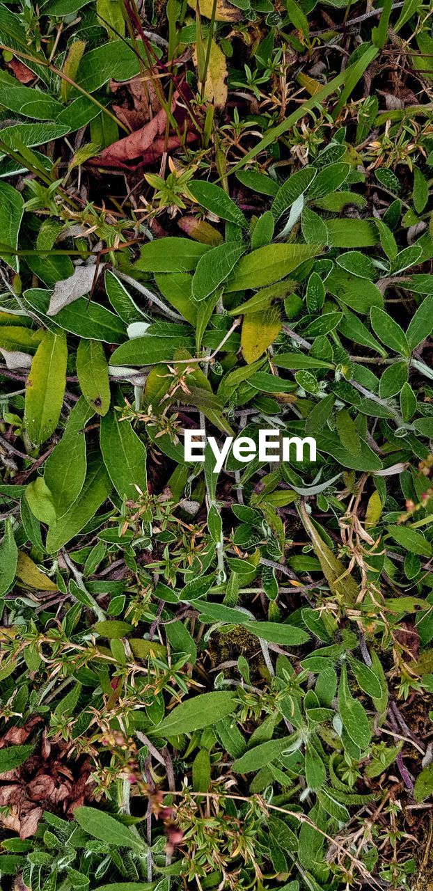
<svg viewBox="0 0 433 891"><path fill-rule="evenodd" d="M59 422L67 359L65 335L45 331L26 384L24 418L29 438L36 446L51 437Z"/></svg>

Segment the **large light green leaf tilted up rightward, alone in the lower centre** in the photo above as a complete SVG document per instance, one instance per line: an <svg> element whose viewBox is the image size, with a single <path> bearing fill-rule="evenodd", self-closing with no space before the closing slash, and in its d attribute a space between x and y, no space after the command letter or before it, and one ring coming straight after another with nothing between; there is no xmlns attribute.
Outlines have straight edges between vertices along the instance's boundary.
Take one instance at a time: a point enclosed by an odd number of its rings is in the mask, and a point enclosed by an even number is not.
<svg viewBox="0 0 433 891"><path fill-rule="evenodd" d="M192 733L202 730L211 724L221 721L226 715L232 715L236 707L235 694L230 691L200 693L192 699L186 699L176 706L165 717L155 732L165 739L179 736L180 733Z"/></svg>

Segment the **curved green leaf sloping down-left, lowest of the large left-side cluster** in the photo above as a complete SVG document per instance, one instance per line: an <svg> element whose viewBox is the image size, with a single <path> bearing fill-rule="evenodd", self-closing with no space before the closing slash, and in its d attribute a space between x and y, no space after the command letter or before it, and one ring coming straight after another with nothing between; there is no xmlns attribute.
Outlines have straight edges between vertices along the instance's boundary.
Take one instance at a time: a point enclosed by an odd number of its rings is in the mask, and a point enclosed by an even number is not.
<svg viewBox="0 0 433 891"><path fill-rule="evenodd" d="M110 478L104 469L102 458L97 453L93 454L89 457L85 483L78 498L48 531L46 550L50 553L60 551L64 544L78 535L94 519L96 511L110 495L110 491Z"/></svg>

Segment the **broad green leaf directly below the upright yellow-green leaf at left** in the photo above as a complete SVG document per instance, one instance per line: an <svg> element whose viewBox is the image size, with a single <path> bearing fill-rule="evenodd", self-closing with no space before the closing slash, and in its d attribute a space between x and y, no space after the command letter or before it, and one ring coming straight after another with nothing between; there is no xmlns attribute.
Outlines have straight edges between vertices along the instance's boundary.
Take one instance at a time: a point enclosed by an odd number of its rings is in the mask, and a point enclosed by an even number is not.
<svg viewBox="0 0 433 891"><path fill-rule="evenodd" d="M84 396L74 405L60 442L45 463L45 483L53 497L58 517L68 511L86 479L86 439L84 429L92 417Z"/></svg>

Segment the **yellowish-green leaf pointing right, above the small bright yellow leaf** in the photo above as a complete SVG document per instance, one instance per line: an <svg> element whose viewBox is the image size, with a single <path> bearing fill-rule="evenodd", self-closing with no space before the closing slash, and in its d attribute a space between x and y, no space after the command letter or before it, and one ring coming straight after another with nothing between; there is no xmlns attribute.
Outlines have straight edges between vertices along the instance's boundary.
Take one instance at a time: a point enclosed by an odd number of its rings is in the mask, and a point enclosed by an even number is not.
<svg viewBox="0 0 433 891"><path fill-rule="evenodd" d="M256 289L278 282L321 251L322 247L317 244L266 244L241 257L225 290Z"/></svg>

